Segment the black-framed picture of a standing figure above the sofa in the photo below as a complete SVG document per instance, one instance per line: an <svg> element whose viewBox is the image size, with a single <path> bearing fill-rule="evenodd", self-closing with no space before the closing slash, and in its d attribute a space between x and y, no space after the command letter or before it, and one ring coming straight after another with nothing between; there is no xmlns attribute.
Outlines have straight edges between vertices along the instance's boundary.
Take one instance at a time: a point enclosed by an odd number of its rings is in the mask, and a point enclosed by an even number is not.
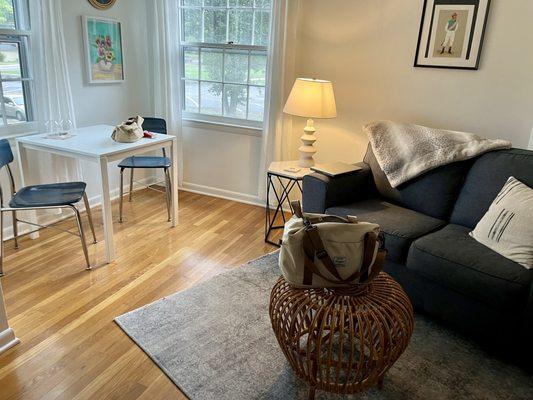
<svg viewBox="0 0 533 400"><path fill-rule="evenodd" d="M490 0L424 0L415 67L478 69Z"/></svg>

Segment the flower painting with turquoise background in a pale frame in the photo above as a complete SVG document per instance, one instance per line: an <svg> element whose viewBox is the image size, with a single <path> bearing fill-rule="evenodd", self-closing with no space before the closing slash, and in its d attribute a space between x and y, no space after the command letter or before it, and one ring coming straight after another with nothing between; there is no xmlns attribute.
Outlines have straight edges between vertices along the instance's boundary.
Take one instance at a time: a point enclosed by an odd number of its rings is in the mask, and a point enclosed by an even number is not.
<svg viewBox="0 0 533 400"><path fill-rule="evenodd" d="M87 82L124 82L122 23L111 18L82 16L82 26Z"/></svg>

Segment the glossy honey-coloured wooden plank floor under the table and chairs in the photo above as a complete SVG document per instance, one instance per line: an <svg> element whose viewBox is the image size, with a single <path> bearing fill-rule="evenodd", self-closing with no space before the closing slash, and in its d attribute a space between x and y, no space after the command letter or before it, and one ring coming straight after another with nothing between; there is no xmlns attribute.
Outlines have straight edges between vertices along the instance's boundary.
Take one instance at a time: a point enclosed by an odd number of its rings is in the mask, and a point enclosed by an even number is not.
<svg viewBox="0 0 533 400"><path fill-rule="evenodd" d="M162 194L114 203L116 262L84 270L79 239L50 229L6 243L2 285L21 344L0 356L0 399L182 399L113 318L271 252L264 209L180 192L179 226ZM102 238L99 210L96 234ZM62 227L74 228L73 221ZM103 242L90 246L103 260Z"/></svg>

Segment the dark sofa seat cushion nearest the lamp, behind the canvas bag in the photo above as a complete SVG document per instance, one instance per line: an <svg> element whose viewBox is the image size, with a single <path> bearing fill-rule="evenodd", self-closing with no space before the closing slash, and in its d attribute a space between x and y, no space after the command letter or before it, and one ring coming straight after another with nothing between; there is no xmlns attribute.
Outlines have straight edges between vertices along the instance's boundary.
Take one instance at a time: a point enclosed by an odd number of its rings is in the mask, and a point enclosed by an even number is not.
<svg viewBox="0 0 533 400"><path fill-rule="evenodd" d="M354 215L361 221L378 224L385 234L388 259L405 262L411 243L445 225L445 222L380 199L363 200L330 207L327 214L345 217Z"/></svg>

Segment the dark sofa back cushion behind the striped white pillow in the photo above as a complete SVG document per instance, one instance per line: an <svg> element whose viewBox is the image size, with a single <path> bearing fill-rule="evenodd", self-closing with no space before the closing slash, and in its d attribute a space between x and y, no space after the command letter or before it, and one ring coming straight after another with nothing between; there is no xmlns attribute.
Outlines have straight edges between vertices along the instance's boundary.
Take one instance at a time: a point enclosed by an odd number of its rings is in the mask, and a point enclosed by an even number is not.
<svg viewBox="0 0 533 400"><path fill-rule="evenodd" d="M533 187L533 151L498 150L478 157L466 176L450 222L474 228L510 176Z"/></svg>

